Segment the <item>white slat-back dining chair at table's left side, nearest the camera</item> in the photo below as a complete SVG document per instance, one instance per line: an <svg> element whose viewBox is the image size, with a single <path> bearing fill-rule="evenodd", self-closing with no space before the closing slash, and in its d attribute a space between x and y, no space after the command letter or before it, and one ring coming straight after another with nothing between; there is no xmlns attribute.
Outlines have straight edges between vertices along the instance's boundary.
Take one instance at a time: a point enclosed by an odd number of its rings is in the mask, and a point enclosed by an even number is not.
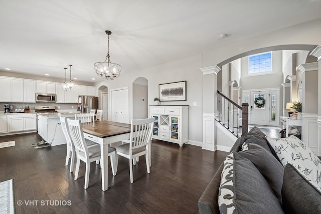
<svg viewBox="0 0 321 214"><path fill-rule="evenodd" d="M82 131L82 123L80 120L71 120L67 118L68 128L70 137L72 139L72 142L75 145L75 151L76 151L76 171L75 171L75 180L78 179L78 173L79 173L79 166L80 166L80 160L84 161L86 164L86 172L85 172L85 185L84 188L88 188L89 184L89 172L90 172L90 163L99 160L101 158L100 156L100 145L95 145L92 147L87 147L84 133ZM111 163L111 169L112 174L116 175L116 154L115 149L108 146L108 156L110 156L110 163ZM107 157L108 158L108 157Z"/></svg>

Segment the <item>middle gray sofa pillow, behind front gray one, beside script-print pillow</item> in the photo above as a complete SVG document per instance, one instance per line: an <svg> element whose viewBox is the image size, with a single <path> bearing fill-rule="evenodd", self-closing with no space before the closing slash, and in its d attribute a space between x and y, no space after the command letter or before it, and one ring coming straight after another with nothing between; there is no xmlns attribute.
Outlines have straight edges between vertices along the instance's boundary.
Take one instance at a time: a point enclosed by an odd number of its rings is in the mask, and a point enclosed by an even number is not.
<svg viewBox="0 0 321 214"><path fill-rule="evenodd" d="M260 145L248 143L248 150L238 152L242 157L250 160L261 172L276 197L282 202L281 189L283 182L283 165Z"/></svg>

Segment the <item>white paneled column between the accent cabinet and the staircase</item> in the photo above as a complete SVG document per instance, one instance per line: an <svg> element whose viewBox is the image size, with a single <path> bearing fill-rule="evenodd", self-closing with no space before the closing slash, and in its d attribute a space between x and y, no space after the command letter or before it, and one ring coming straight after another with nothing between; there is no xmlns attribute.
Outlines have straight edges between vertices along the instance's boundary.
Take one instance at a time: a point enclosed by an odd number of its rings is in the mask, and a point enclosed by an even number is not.
<svg viewBox="0 0 321 214"><path fill-rule="evenodd" d="M200 68L203 72L203 143L202 148L215 151L215 117L217 116L217 73L220 68Z"/></svg>

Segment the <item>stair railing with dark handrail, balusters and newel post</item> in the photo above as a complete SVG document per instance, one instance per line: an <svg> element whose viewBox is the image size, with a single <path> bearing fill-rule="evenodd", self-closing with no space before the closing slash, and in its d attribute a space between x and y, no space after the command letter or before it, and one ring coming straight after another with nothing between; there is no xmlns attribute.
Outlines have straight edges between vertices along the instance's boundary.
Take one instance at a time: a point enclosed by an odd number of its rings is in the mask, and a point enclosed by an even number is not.
<svg viewBox="0 0 321 214"><path fill-rule="evenodd" d="M236 137L239 137L239 115L240 111L242 111L242 135L248 132L248 103L242 103L242 106L235 103L229 97L225 96L219 90L217 91L219 95L219 117L216 118L218 122L220 122L226 129L228 129L232 134ZM227 105L227 108L225 107ZM226 113L227 109L227 113ZM236 115L234 112L237 112ZM234 119L237 119L236 123ZM231 122L232 118L232 123ZM236 126L235 126L236 124Z"/></svg>

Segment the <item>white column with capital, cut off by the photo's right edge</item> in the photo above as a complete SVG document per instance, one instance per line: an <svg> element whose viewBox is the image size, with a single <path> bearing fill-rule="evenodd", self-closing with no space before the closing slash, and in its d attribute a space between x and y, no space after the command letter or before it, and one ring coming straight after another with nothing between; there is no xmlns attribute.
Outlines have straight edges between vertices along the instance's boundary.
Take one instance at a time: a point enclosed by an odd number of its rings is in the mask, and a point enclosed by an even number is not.
<svg viewBox="0 0 321 214"><path fill-rule="evenodd" d="M317 58L317 155L321 155L321 45L317 46L310 54Z"/></svg>

